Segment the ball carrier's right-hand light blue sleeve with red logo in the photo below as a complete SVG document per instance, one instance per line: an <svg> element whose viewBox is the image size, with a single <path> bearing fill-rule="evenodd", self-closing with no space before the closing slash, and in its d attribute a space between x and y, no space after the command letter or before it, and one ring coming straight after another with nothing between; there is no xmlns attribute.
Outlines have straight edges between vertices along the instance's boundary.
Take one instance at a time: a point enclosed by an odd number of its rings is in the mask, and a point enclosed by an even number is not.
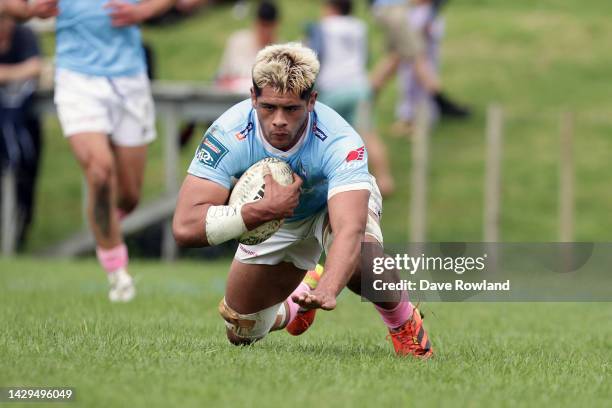
<svg viewBox="0 0 612 408"><path fill-rule="evenodd" d="M350 127L325 149L323 170L329 182L328 199L337 193L369 190L368 154L359 135Z"/></svg>

